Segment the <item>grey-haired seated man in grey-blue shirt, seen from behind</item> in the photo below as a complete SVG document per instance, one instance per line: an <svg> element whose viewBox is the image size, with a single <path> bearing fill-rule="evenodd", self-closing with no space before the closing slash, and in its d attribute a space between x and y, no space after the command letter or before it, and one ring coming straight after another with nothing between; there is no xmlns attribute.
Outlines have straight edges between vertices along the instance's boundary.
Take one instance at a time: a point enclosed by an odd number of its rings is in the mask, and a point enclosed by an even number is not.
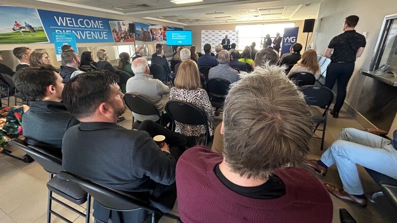
<svg viewBox="0 0 397 223"><path fill-rule="evenodd" d="M235 50L237 51L237 50ZM208 72L208 79L211 78L223 78L230 81L230 83L236 82L240 79L239 72L229 67L229 53L227 50L221 50L218 54L218 66L213 67ZM245 66L245 63L244 63Z"/></svg>

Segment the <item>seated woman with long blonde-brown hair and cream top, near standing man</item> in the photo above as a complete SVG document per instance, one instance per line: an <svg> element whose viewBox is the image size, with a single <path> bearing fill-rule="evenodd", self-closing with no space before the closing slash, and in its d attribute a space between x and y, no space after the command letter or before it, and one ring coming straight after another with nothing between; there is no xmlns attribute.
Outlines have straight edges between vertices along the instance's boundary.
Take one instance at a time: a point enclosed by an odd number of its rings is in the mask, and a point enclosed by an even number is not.
<svg viewBox="0 0 397 223"><path fill-rule="evenodd" d="M320 76L320 66L317 61L317 52L314 49L308 49L303 52L301 59L294 65L287 77L290 77L293 73L298 72L309 72L313 74L316 79Z"/></svg>

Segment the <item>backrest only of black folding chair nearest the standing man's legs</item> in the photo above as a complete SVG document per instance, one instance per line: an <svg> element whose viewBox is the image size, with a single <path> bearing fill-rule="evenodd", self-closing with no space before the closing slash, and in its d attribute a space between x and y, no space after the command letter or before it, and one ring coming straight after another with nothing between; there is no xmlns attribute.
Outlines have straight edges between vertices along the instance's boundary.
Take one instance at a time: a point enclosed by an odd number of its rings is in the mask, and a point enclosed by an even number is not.
<svg viewBox="0 0 397 223"><path fill-rule="evenodd" d="M325 86L306 85L300 88L305 95L305 101L308 105L327 106L327 109L332 103L333 92Z"/></svg>

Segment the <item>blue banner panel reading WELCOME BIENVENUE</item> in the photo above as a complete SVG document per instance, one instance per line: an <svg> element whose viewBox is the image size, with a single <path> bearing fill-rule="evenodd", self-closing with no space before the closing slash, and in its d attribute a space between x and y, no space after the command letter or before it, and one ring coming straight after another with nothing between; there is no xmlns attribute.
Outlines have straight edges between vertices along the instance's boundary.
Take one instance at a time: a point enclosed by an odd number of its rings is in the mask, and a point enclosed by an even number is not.
<svg viewBox="0 0 397 223"><path fill-rule="evenodd" d="M114 42L109 21L93 16L76 15L63 12L37 10L47 34L74 33L77 43L107 43ZM53 36L47 35L49 41L54 43Z"/></svg>

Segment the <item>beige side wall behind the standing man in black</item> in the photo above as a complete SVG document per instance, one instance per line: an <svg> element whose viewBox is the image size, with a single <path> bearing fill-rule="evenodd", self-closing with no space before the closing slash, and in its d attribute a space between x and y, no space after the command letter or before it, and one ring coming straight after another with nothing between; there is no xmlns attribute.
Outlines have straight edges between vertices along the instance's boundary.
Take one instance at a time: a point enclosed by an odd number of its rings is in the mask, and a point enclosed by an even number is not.
<svg viewBox="0 0 397 223"><path fill-rule="evenodd" d="M359 72L370 67L384 17L395 13L397 13L395 0L325 0L321 3L313 45L320 54L323 55L332 37L343 33L343 23L349 15L360 17L356 26L358 33L367 32L365 50L356 60L354 73L348 85L346 102L353 108L360 103L358 99L365 80L365 76L360 75ZM394 117L395 114L390 115Z"/></svg>

